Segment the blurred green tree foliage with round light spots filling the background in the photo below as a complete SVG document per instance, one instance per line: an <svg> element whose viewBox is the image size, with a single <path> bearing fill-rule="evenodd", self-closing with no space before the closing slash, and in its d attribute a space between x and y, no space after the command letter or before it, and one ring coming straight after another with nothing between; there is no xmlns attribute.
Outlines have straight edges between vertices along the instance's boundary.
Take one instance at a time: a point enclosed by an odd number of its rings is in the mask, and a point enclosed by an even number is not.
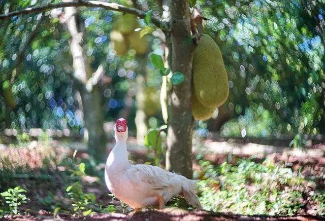
<svg viewBox="0 0 325 221"><path fill-rule="evenodd" d="M1 0L0 10L48 2L60 1ZM159 1L138 2L152 9L153 15L159 12ZM198 124L200 136L208 131L220 131L222 137L324 132L324 1L197 1L197 7L209 19L205 31L222 51L231 88L228 101L213 119ZM91 67L103 64L106 70L99 83L105 121L124 116L135 135L136 78L143 75L144 66L143 84L159 93L161 76L148 54L163 54L163 40L158 34L146 35L150 48L143 58L133 49L118 56L110 44L110 31L120 14L96 8L81 8L81 12ZM64 18L53 14L1 21L1 130L68 128L83 135L70 34L60 21ZM163 124L159 111L149 117L151 126Z"/></svg>

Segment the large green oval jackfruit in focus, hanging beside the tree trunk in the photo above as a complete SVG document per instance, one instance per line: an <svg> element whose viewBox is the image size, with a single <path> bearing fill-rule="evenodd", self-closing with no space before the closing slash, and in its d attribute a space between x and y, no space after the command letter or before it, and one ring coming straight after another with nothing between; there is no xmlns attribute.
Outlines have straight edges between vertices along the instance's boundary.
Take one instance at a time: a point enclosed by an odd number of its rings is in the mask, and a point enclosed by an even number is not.
<svg viewBox="0 0 325 221"><path fill-rule="evenodd" d="M220 106L229 95L228 74L218 45L203 34L193 54L193 91L204 106Z"/></svg>

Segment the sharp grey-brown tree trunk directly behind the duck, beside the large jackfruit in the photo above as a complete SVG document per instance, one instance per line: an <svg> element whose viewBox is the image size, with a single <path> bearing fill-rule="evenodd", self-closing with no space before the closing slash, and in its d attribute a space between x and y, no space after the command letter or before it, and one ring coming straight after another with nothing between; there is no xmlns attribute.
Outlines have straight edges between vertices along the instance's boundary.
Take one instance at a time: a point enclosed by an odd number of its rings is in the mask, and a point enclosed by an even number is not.
<svg viewBox="0 0 325 221"><path fill-rule="evenodd" d="M194 45L190 32L188 1L171 1L172 72L185 76L180 85L174 85L168 92L168 135L166 168L192 177L192 129L191 79Z"/></svg>

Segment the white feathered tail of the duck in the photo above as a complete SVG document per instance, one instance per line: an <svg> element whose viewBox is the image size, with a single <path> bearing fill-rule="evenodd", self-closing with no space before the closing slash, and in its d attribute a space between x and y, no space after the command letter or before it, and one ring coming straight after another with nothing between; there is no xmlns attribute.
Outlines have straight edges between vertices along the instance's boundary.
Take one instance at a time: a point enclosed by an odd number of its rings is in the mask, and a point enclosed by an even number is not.
<svg viewBox="0 0 325 221"><path fill-rule="evenodd" d="M191 204L192 206L196 207L197 209L202 209L201 203L199 201L199 197L196 195L196 185L199 179L187 179L183 181L182 184L182 194L184 198Z"/></svg>

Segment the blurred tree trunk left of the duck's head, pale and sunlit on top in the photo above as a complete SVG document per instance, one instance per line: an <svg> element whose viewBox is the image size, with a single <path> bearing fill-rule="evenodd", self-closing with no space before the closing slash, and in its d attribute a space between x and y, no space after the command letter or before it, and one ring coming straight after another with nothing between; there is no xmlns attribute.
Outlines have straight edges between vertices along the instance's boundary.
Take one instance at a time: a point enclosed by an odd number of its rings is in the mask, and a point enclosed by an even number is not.
<svg viewBox="0 0 325 221"><path fill-rule="evenodd" d="M78 85L84 112L85 134L88 135L89 153L99 161L106 158L106 139L103 129L104 116L101 105L101 94L98 86L90 79L95 73L86 55L86 39L84 21L74 7L64 8L68 29L71 34L70 51L73 56L74 78ZM99 70L98 71L104 71ZM97 72L97 71L96 71ZM91 76L91 74L93 76ZM89 87L89 81L93 85Z"/></svg>

